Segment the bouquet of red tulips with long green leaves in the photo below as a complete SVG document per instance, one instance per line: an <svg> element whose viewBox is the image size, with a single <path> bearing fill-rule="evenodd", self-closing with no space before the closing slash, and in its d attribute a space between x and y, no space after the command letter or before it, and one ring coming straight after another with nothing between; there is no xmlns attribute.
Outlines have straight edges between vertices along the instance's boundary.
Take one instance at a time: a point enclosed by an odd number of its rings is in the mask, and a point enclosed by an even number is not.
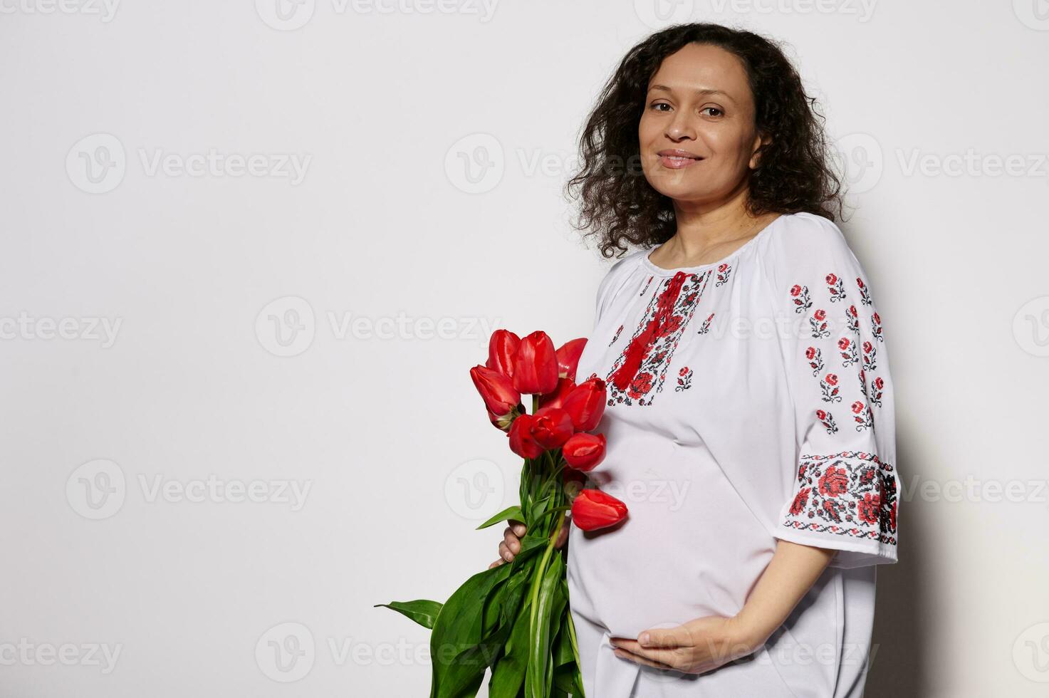
<svg viewBox="0 0 1049 698"><path fill-rule="evenodd" d="M492 670L492 698L583 695L579 650L569 612L566 550L554 547L561 528L591 531L619 523L626 506L597 489L582 489L584 474L604 459L604 435L591 433L606 402L604 381L578 385L576 366L585 338L555 350L547 333L523 339L497 330L488 361L470 369L489 420L507 432L510 449L524 459L520 504L477 529L508 519L527 532L513 563L478 572L444 604L420 599L378 604L432 630L430 698L476 696ZM532 396L532 411L521 403Z"/></svg>

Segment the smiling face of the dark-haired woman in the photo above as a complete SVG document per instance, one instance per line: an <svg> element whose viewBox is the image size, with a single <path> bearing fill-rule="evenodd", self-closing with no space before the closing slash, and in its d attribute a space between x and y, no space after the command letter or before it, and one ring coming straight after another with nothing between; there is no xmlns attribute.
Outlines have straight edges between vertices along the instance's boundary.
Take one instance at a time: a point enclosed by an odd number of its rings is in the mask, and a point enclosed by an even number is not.
<svg viewBox="0 0 1049 698"><path fill-rule="evenodd" d="M667 56L648 83L638 142L645 178L661 194L701 205L735 194L761 145L740 59L707 44Z"/></svg>

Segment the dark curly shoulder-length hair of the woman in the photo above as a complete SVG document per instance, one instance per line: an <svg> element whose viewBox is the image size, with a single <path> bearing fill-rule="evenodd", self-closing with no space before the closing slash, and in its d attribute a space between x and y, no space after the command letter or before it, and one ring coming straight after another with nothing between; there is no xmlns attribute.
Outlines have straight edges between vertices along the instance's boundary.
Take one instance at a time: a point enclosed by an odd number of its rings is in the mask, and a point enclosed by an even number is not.
<svg viewBox="0 0 1049 698"><path fill-rule="evenodd" d="M834 220L841 213L841 183L829 163L830 148L797 70L770 39L721 24L675 24L631 48L608 79L579 139L579 172L565 184L575 197L581 187L577 230L591 228L603 257L626 252L624 242L644 248L668 240L677 230L673 203L639 176L638 123L648 81L663 59L690 43L720 46L736 56L747 72L762 145L761 165L750 170L747 209L806 211Z"/></svg>

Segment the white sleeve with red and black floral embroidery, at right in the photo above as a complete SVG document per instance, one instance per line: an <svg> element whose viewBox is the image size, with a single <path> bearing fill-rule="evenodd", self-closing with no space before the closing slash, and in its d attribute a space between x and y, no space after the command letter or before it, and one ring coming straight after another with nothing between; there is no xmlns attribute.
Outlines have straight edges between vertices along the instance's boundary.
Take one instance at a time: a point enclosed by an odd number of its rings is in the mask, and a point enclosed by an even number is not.
<svg viewBox="0 0 1049 698"><path fill-rule="evenodd" d="M881 317L833 221L808 216L786 233L771 281L797 447L774 535L836 549L831 567L895 563L899 477Z"/></svg>

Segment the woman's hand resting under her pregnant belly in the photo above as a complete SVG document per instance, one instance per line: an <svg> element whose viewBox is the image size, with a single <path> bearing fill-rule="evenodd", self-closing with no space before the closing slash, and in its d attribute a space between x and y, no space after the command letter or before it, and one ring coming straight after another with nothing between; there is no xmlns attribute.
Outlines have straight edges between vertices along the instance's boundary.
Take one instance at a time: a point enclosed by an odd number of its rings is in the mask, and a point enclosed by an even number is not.
<svg viewBox="0 0 1049 698"><path fill-rule="evenodd" d="M753 635L736 617L704 616L676 628L643 631L637 639L608 640L617 657L658 669L702 674L754 652L762 643Z"/></svg>

